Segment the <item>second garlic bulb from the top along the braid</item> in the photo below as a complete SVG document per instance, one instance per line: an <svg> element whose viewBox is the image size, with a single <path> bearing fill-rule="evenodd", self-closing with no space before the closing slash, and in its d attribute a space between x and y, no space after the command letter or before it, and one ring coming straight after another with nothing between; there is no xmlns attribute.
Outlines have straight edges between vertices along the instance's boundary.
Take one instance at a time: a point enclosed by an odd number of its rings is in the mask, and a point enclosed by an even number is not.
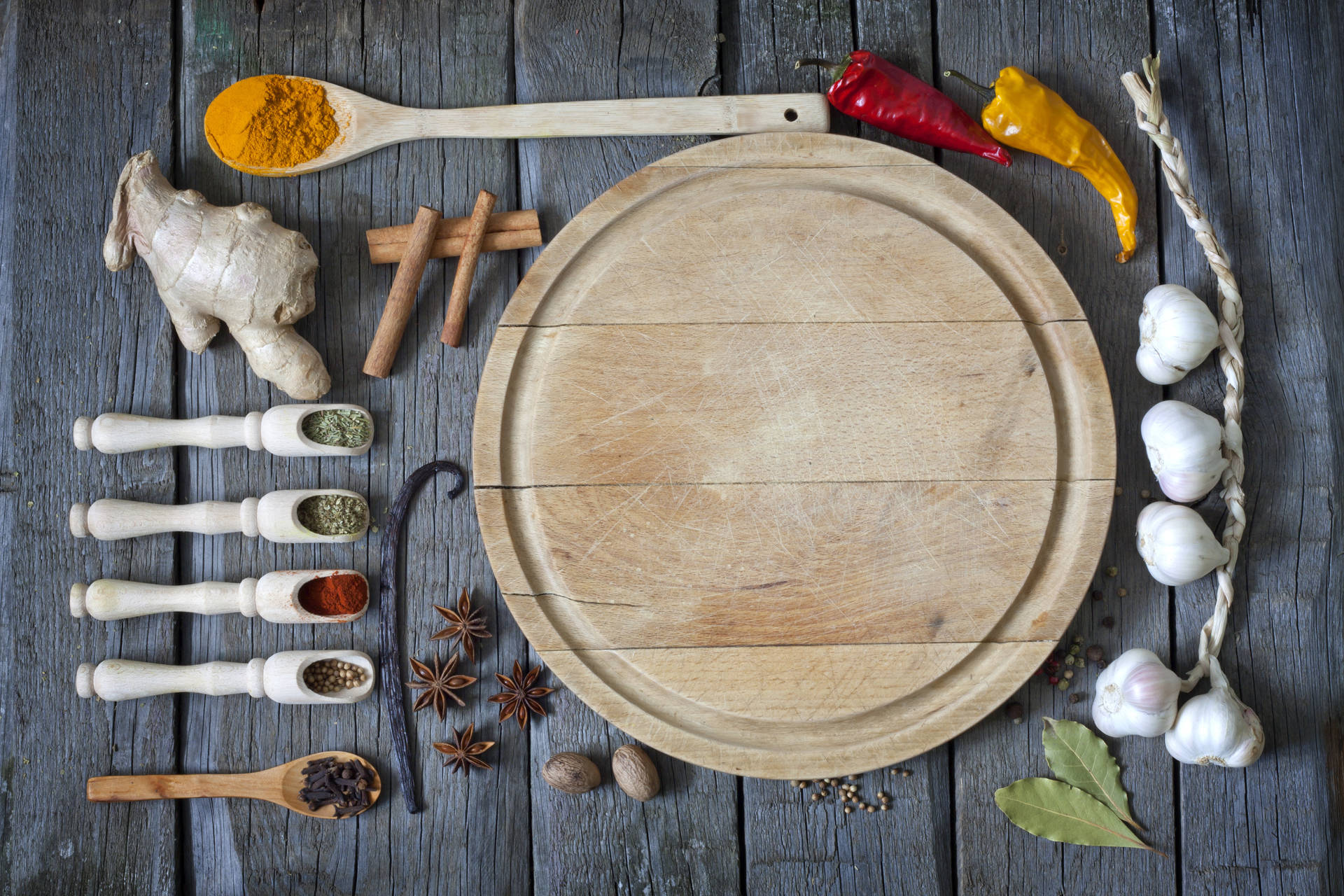
<svg viewBox="0 0 1344 896"><path fill-rule="evenodd" d="M1172 501L1200 500L1227 469L1222 424L1185 402L1153 404L1138 431L1157 485Z"/></svg>

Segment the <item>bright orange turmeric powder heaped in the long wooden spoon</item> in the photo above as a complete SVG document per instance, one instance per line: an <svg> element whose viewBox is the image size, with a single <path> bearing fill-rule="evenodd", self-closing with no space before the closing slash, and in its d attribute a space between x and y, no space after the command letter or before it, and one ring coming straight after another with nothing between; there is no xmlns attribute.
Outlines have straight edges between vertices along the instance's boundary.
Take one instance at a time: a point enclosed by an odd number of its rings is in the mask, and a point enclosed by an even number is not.
<svg viewBox="0 0 1344 896"><path fill-rule="evenodd" d="M293 168L321 156L339 136L327 90L308 78L245 78L206 109L210 148L239 171Z"/></svg>

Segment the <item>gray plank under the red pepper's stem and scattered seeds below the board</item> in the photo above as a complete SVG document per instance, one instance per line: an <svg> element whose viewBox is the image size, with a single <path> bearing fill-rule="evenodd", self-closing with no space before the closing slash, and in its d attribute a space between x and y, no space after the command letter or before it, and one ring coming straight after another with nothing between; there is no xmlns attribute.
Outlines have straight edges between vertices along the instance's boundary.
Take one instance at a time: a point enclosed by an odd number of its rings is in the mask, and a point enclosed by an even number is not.
<svg viewBox="0 0 1344 896"><path fill-rule="evenodd" d="M723 4L724 93L825 90L829 74L796 71L800 56L840 59L871 48L929 78L933 17L927 4L859 3L851 19L844 3ZM929 159L921 146L835 113L832 130L859 133ZM813 803L810 791L784 780L743 780L745 849L750 892L949 893L952 877L952 791L948 750L907 763L911 776L888 770L863 776L868 799L892 797L886 813L845 815L833 802Z"/></svg>

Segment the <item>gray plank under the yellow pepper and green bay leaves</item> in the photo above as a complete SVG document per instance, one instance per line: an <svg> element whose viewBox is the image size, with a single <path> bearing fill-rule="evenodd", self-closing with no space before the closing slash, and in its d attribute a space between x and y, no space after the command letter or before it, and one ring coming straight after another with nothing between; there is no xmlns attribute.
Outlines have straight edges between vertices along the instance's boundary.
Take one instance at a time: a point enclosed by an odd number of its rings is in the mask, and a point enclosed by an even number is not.
<svg viewBox="0 0 1344 896"><path fill-rule="evenodd" d="M1101 645L1109 657L1128 647L1168 650L1168 592L1149 578L1133 545L1134 519L1146 502L1141 489L1154 488L1138 422L1160 398L1133 364L1137 316L1142 294L1159 282L1156 183L1146 137L1132 124L1133 105L1120 87L1120 75L1148 52L1148 9L1134 0L1090 5L1009 0L996 7L965 0L937 4L938 70L960 69L981 82L1003 66L1016 64L1055 87L1082 116L1102 130L1125 161L1140 192L1140 247L1126 265L1117 265L1116 232L1105 201L1078 175L1042 157L1013 150L1003 169L986 160L943 153L943 165L985 191L1007 208L1050 253L1063 271L1101 347L1116 404L1117 482L1110 535L1101 568L1114 566L1116 578L1098 574L1101 600L1086 599L1071 634ZM961 85L941 85L968 110L978 113L980 98ZM1128 596L1120 598L1125 588ZM1114 619L1106 629L1101 619ZM1071 692L1090 696L1097 670L1089 666ZM1013 827L993 802L993 791L1028 775L1048 774L1040 747L1042 716L1089 721L1089 703L1067 703L1067 693L1036 678L1015 697L1025 707L1025 721L989 716L958 737L953 747L956 774L957 870L960 888L976 893L1081 892L1111 881L1144 881L1145 892L1172 892L1173 864L1141 850L1063 846ZM1171 760L1161 742L1130 737L1111 744L1124 768L1149 840L1171 853L1175 844Z"/></svg>

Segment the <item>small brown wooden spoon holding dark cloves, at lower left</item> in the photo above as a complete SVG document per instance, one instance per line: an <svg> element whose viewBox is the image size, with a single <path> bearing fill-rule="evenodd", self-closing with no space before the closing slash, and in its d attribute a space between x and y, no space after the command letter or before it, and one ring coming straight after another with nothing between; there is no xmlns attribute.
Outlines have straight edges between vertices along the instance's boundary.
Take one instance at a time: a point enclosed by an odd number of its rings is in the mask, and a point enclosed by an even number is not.
<svg viewBox="0 0 1344 896"><path fill-rule="evenodd" d="M308 756L301 756L284 766L253 771L242 775L105 775L90 778L86 794L90 802L95 803L124 803L137 799L187 799L194 797L245 797L247 799L266 799L284 806L300 815L312 818L335 818L335 806L323 806L312 810L298 791L304 786L304 767L314 759L333 756L337 762L356 759L374 772L374 783L368 787L368 805L378 802L378 795L383 791L383 780L378 776L374 764L352 752L340 750L325 750ZM368 806L366 806L367 809ZM345 815L353 818L364 809Z"/></svg>

